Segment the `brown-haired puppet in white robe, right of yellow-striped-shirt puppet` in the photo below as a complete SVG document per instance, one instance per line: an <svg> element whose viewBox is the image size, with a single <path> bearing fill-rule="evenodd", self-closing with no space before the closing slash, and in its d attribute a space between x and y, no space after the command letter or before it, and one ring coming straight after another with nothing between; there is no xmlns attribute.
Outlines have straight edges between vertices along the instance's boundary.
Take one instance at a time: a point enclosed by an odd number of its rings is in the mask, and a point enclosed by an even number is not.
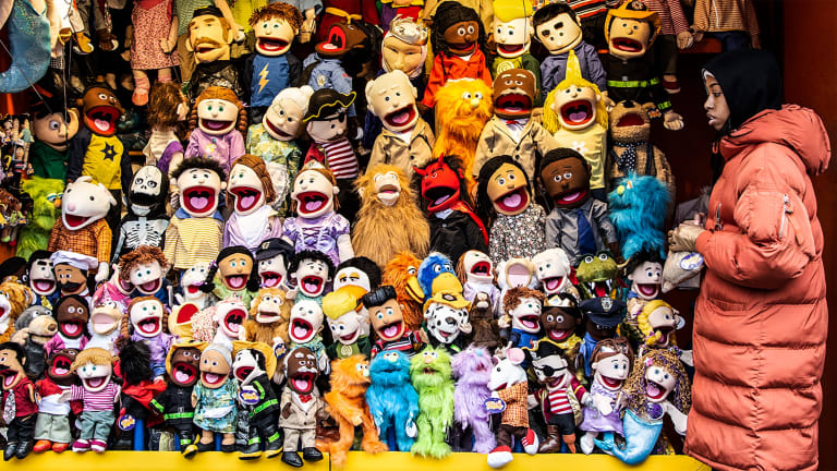
<svg viewBox="0 0 837 471"><path fill-rule="evenodd" d="M236 159L227 183L232 214L223 227L223 246L243 245L253 252L266 239L281 237L281 218L270 206L275 198L264 160L250 154Z"/></svg>

